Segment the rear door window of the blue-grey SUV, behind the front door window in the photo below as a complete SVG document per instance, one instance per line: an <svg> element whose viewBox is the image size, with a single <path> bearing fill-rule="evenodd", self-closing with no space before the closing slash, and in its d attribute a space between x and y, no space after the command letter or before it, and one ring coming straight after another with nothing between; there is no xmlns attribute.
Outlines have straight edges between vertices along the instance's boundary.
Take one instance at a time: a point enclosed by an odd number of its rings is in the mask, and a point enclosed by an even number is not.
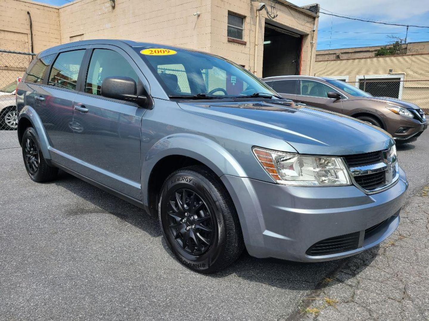
<svg viewBox="0 0 429 321"><path fill-rule="evenodd" d="M60 53L52 66L48 84L76 90L79 68L84 54L85 49Z"/></svg>

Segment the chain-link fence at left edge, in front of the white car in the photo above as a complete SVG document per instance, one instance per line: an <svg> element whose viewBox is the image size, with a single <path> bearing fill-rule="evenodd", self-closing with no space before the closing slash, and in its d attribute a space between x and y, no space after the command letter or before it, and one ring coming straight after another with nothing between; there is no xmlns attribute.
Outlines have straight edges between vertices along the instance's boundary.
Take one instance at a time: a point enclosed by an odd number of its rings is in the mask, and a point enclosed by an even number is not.
<svg viewBox="0 0 429 321"><path fill-rule="evenodd" d="M34 53L0 49L0 149L16 147L15 89Z"/></svg>

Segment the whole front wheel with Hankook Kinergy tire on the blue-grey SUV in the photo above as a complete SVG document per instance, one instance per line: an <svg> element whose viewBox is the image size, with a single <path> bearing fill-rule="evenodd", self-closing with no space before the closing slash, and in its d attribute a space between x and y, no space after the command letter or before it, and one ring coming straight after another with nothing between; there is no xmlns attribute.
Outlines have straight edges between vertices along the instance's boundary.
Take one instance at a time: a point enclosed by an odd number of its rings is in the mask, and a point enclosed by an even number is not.
<svg viewBox="0 0 429 321"><path fill-rule="evenodd" d="M244 249L229 194L218 177L201 166L169 175L161 188L158 216L174 255L197 272L224 269Z"/></svg>

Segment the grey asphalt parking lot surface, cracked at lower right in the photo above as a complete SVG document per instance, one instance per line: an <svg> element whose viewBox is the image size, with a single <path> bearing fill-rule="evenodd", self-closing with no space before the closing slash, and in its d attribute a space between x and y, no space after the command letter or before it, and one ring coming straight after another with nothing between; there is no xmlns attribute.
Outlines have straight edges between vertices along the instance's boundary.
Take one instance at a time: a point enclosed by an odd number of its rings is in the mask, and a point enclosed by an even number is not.
<svg viewBox="0 0 429 321"><path fill-rule="evenodd" d="M338 261L243 254L214 275L168 250L157 220L61 172L30 180L0 133L0 320L428 320L429 131L398 148L399 229Z"/></svg>

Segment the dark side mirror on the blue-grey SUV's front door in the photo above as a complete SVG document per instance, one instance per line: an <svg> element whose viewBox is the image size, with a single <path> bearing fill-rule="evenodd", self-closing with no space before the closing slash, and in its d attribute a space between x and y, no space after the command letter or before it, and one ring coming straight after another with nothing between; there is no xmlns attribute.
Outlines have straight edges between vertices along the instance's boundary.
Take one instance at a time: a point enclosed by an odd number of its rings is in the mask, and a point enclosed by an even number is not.
<svg viewBox="0 0 429 321"><path fill-rule="evenodd" d="M145 104L147 98L137 95L137 84L133 78L123 76L106 77L101 85L101 95L124 101L132 101L136 104Z"/></svg>

